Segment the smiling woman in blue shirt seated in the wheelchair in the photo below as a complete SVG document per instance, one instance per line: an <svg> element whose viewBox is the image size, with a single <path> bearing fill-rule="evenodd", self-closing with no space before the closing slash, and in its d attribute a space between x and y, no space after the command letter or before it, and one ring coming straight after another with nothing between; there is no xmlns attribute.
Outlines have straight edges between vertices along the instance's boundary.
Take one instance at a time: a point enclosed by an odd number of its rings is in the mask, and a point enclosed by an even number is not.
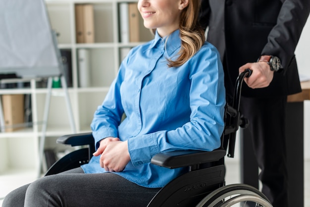
<svg viewBox="0 0 310 207"><path fill-rule="evenodd" d="M91 123L88 164L42 177L6 196L3 207L147 206L185 172L151 164L175 150L212 151L224 129L224 73L198 25L199 0L139 0L154 40L122 61ZM121 122L122 115L126 118Z"/></svg>

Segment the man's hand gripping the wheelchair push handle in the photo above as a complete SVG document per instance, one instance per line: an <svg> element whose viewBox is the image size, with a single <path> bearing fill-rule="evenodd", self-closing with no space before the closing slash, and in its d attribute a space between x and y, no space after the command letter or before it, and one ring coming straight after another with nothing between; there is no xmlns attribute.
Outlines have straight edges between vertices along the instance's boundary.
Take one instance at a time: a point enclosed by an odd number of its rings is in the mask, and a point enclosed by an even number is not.
<svg viewBox="0 0 310 207"><path fill-rule="evenodd" d="M263 61L247 63L239 68L239 73L248 68L253 72L252 75L249 78L245 78L244 81L250 88L256 89L269 86L273 79L274 71L270 70L268 63Z"/></svg>

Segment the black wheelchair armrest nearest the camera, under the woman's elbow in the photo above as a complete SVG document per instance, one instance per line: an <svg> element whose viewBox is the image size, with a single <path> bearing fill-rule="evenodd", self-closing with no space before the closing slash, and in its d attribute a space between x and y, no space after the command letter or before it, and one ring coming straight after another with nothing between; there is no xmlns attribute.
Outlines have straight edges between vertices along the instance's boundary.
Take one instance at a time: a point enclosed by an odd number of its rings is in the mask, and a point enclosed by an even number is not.
<svg viewBox="0 0 310 207"><path fill-rule="evenodd" d="M216 149L211 152L189 150L159 153L152 157L151 163L170 169L187 167L197 164L218 161L226 155L224 149Z"/></svg>

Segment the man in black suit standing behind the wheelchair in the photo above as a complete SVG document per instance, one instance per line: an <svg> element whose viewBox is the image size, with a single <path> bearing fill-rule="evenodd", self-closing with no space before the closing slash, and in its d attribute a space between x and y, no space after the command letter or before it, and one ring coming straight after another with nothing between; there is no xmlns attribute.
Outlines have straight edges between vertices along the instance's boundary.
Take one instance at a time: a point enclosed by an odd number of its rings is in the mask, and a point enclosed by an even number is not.
<svg viewBox="0 0 310 207"><path fill-rule="evenodd" d="M253 70L243 86L241 111L250 121L262 192L274 207L287 207L285 107L287 95L301 91L294 51L310 0L201 2L200 22L220 52L228 101L239 72Z"/></svg>

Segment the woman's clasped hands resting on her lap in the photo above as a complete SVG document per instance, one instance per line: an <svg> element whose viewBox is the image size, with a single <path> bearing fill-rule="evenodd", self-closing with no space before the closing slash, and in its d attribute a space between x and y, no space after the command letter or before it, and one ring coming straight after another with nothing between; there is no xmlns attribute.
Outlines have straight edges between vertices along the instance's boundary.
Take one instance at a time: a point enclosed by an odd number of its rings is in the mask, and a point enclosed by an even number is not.
<svg viewBox="0 0 310 207"><path fill-rule="evenodd" d="M122 171L130 161L128 142L122 142L114 137L101 140L99 148L93 155L100 155L100 166L110 172Z"/></svg>

